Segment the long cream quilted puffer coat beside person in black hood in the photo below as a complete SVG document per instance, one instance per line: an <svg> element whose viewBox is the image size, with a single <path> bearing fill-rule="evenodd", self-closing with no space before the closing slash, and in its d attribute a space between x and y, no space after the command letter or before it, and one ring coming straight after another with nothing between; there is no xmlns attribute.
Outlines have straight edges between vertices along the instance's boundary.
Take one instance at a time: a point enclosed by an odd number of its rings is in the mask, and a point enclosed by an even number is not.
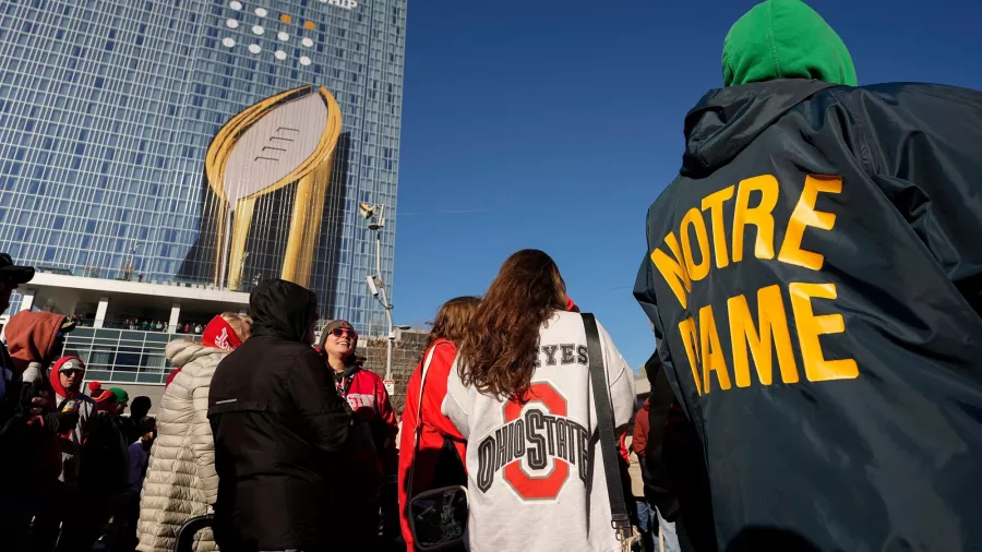
<svg viewBox="0 0 982 552"><path fill-rule="evenodd" d="M188 519L208 514L218 496L215 445L208 424L208 387L227 351L188 340L167 344L167 359L182 367L160 399L157 440L140 496L141 552L171 552ZM194 550L218 550L211 530Z"/></svg>

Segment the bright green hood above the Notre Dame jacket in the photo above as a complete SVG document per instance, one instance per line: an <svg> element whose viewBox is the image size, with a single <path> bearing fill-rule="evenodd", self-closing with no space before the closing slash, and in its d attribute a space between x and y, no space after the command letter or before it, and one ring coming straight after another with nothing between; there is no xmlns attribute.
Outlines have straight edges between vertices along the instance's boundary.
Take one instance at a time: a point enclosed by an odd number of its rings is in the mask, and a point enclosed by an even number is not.
<svg viewBox="0 0 982 552"><path fill-rule="evenodd" d="M775 79L858 84L846 44L799 0L767 0L743 14L727 33L722 64L724 86Z"/></svg>

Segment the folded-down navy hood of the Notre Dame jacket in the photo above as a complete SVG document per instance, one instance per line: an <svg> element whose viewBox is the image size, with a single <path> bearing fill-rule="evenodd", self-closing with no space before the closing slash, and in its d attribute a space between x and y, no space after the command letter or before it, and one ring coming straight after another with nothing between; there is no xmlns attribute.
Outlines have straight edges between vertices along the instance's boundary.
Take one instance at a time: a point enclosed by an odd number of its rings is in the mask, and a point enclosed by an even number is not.
<svg viewBox="0 0 982 552"><path fill-rule="evenodd" d="M829 86L835 85L782 79L709 91L685 116L682 176L699 178L726 165L791 108Z"/></svg>

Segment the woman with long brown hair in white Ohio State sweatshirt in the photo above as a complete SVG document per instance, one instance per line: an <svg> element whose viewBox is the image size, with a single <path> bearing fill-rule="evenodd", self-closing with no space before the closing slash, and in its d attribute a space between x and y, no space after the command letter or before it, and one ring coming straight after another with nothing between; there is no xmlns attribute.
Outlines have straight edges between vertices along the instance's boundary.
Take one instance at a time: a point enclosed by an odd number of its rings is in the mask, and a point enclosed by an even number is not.
<svg viewBox="0 0 982 552"><path fill-rule="evenodd" d="M538 250L510 256L459 344L443 412L467 440L469 550L620 550L598 448L583 319ZM634 373L598 323L614 423Z"/></svg>

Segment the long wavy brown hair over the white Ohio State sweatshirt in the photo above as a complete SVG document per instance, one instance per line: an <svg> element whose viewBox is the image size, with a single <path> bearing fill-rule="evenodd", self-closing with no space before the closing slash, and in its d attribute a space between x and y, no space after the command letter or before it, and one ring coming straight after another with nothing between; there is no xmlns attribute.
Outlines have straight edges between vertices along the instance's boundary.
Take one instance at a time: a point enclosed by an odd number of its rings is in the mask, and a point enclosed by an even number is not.
<svg viewBox="0 0 982 552"><path fill-rule="evenodd" d="M565 304L566 283L552 257L537 249L510 256L458 344L464 384L499 400L527 401L539 328Z"/></svg>

